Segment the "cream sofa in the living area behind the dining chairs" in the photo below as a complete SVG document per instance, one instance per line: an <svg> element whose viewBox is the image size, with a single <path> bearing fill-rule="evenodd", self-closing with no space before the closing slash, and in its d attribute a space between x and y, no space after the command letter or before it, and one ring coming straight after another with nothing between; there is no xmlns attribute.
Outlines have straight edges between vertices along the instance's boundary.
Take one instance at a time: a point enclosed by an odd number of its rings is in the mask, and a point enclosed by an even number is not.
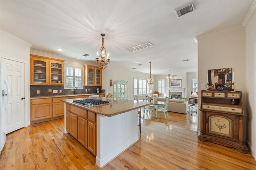
<svg viewBox="0 0 256 170"><path fill-rule="evenodd" d="M157 98L157 100L165 102L166 98ZM169 99L168 111L186 114L188 112L188 102L180 99Z"/></svg>

